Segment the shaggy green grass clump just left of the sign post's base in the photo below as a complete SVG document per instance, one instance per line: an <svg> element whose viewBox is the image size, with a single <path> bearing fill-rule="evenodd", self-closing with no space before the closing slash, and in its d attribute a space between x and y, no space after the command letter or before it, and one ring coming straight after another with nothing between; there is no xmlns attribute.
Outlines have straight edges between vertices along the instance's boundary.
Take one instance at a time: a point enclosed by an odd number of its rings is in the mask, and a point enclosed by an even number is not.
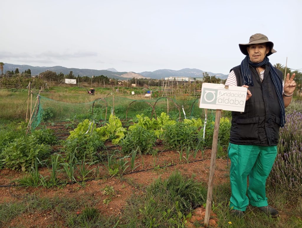
<svg viewBox="0 0 302 228"><path fill-rule="evenodd" d="M119 227L183 227L190 211L204 203L201 183L174 172L167 180L157 179L145 194L131 197Z"/></svg>

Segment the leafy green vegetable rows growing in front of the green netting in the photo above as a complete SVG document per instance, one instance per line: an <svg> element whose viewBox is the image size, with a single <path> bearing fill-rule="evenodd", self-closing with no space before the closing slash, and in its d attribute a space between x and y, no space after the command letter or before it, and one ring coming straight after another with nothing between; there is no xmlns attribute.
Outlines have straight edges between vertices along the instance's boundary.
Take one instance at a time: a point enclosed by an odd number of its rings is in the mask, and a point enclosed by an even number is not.
<svg viewBox="0 0 302 228"><path fill-rule="evenodd" d="M188 162L212 144L214 122L206 125L204 139L204 123L200 118L178 122L161 113L157 119L137 115L132 121L125 128L113 115L105 124L86 119L70 131L66 140L57 140L53 130L45 127L24 135L25 124L21 123L15 131L2 133L1 165L28 172L31 179L37 179L36 184L53 186L62 181L95 178L100 175L98 165L105 167L109 176L122 175L139 166L137 158L141 155L156 156L162 150L174 150L179 153L180 162ZM228 118L220 120L220 129L223 152L229 138ZM51 174L41 178L37 173L40 166L49 167ZM62 172L65 179L59 180Z"/></svg>

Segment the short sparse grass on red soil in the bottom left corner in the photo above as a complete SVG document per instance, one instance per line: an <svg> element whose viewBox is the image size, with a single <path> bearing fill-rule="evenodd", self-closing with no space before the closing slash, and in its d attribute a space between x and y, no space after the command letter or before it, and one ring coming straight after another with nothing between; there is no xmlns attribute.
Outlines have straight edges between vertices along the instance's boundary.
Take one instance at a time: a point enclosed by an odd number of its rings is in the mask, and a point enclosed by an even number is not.
<svg viewBox="0 0 302 228"><path fill-rule="evenodd" d="M62 224L69 227L114 227L117 220L102 216L94 208L96 203L93 197L40 198L38 195L28 195L21 202L0 204L0 226L9 226L11 220L22 213L51 212L52 227L61 227Z"/></svg>

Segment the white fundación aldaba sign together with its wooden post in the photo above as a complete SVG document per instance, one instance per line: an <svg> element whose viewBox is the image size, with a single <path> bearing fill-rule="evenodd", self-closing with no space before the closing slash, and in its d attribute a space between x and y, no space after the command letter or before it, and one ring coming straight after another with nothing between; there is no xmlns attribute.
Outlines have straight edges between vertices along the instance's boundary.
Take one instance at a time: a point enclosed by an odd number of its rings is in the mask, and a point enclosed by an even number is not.
<svg viewBox="0 0 302 228"><path fill-rule="evenodd" d="M212 206L212 193L215 173L215 161L221 110L244 112L247 88L238 86L224 86L222 84L203 83L201 88L200 108L216 109L210 174L207 191L207 206L204 224L208 226Z"/></svg>

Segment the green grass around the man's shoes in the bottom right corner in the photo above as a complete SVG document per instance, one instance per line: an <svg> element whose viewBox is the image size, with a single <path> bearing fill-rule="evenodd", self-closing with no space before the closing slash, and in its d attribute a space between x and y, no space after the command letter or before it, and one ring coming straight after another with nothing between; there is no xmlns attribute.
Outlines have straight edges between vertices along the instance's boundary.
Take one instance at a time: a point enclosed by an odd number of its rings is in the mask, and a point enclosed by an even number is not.
<svg viewBox="0 0 302 228"><path fill-rule="evenodd" d="M286 193L267 188L268 203L279 210L281 217L271 218L252 206L248 206L243 218L230 215L229 200L231 196L230 183L214 187L213 211L218 216L219 227L302 227L302 197L301 194ZM232 224L230 225L229 222Z"/></svg>

